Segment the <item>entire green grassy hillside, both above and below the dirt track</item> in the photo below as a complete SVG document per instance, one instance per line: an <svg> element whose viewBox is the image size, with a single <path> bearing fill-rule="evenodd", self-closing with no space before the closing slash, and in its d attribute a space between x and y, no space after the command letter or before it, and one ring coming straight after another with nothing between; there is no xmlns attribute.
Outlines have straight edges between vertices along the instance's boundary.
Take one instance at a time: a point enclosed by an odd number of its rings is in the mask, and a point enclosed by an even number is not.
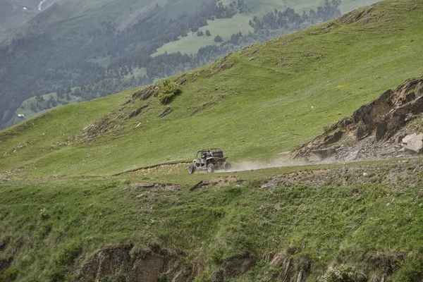
<svg viewBox="0 0 423 282"><path fill-rule="evenodd" d="M108 175L274 159L421 76L422 23L423 1L384 1L177 75L170 104L140 99L160 82L0 131L0 281L131 281L154 258L147 281L421 281L421 158Z"/></svg>

